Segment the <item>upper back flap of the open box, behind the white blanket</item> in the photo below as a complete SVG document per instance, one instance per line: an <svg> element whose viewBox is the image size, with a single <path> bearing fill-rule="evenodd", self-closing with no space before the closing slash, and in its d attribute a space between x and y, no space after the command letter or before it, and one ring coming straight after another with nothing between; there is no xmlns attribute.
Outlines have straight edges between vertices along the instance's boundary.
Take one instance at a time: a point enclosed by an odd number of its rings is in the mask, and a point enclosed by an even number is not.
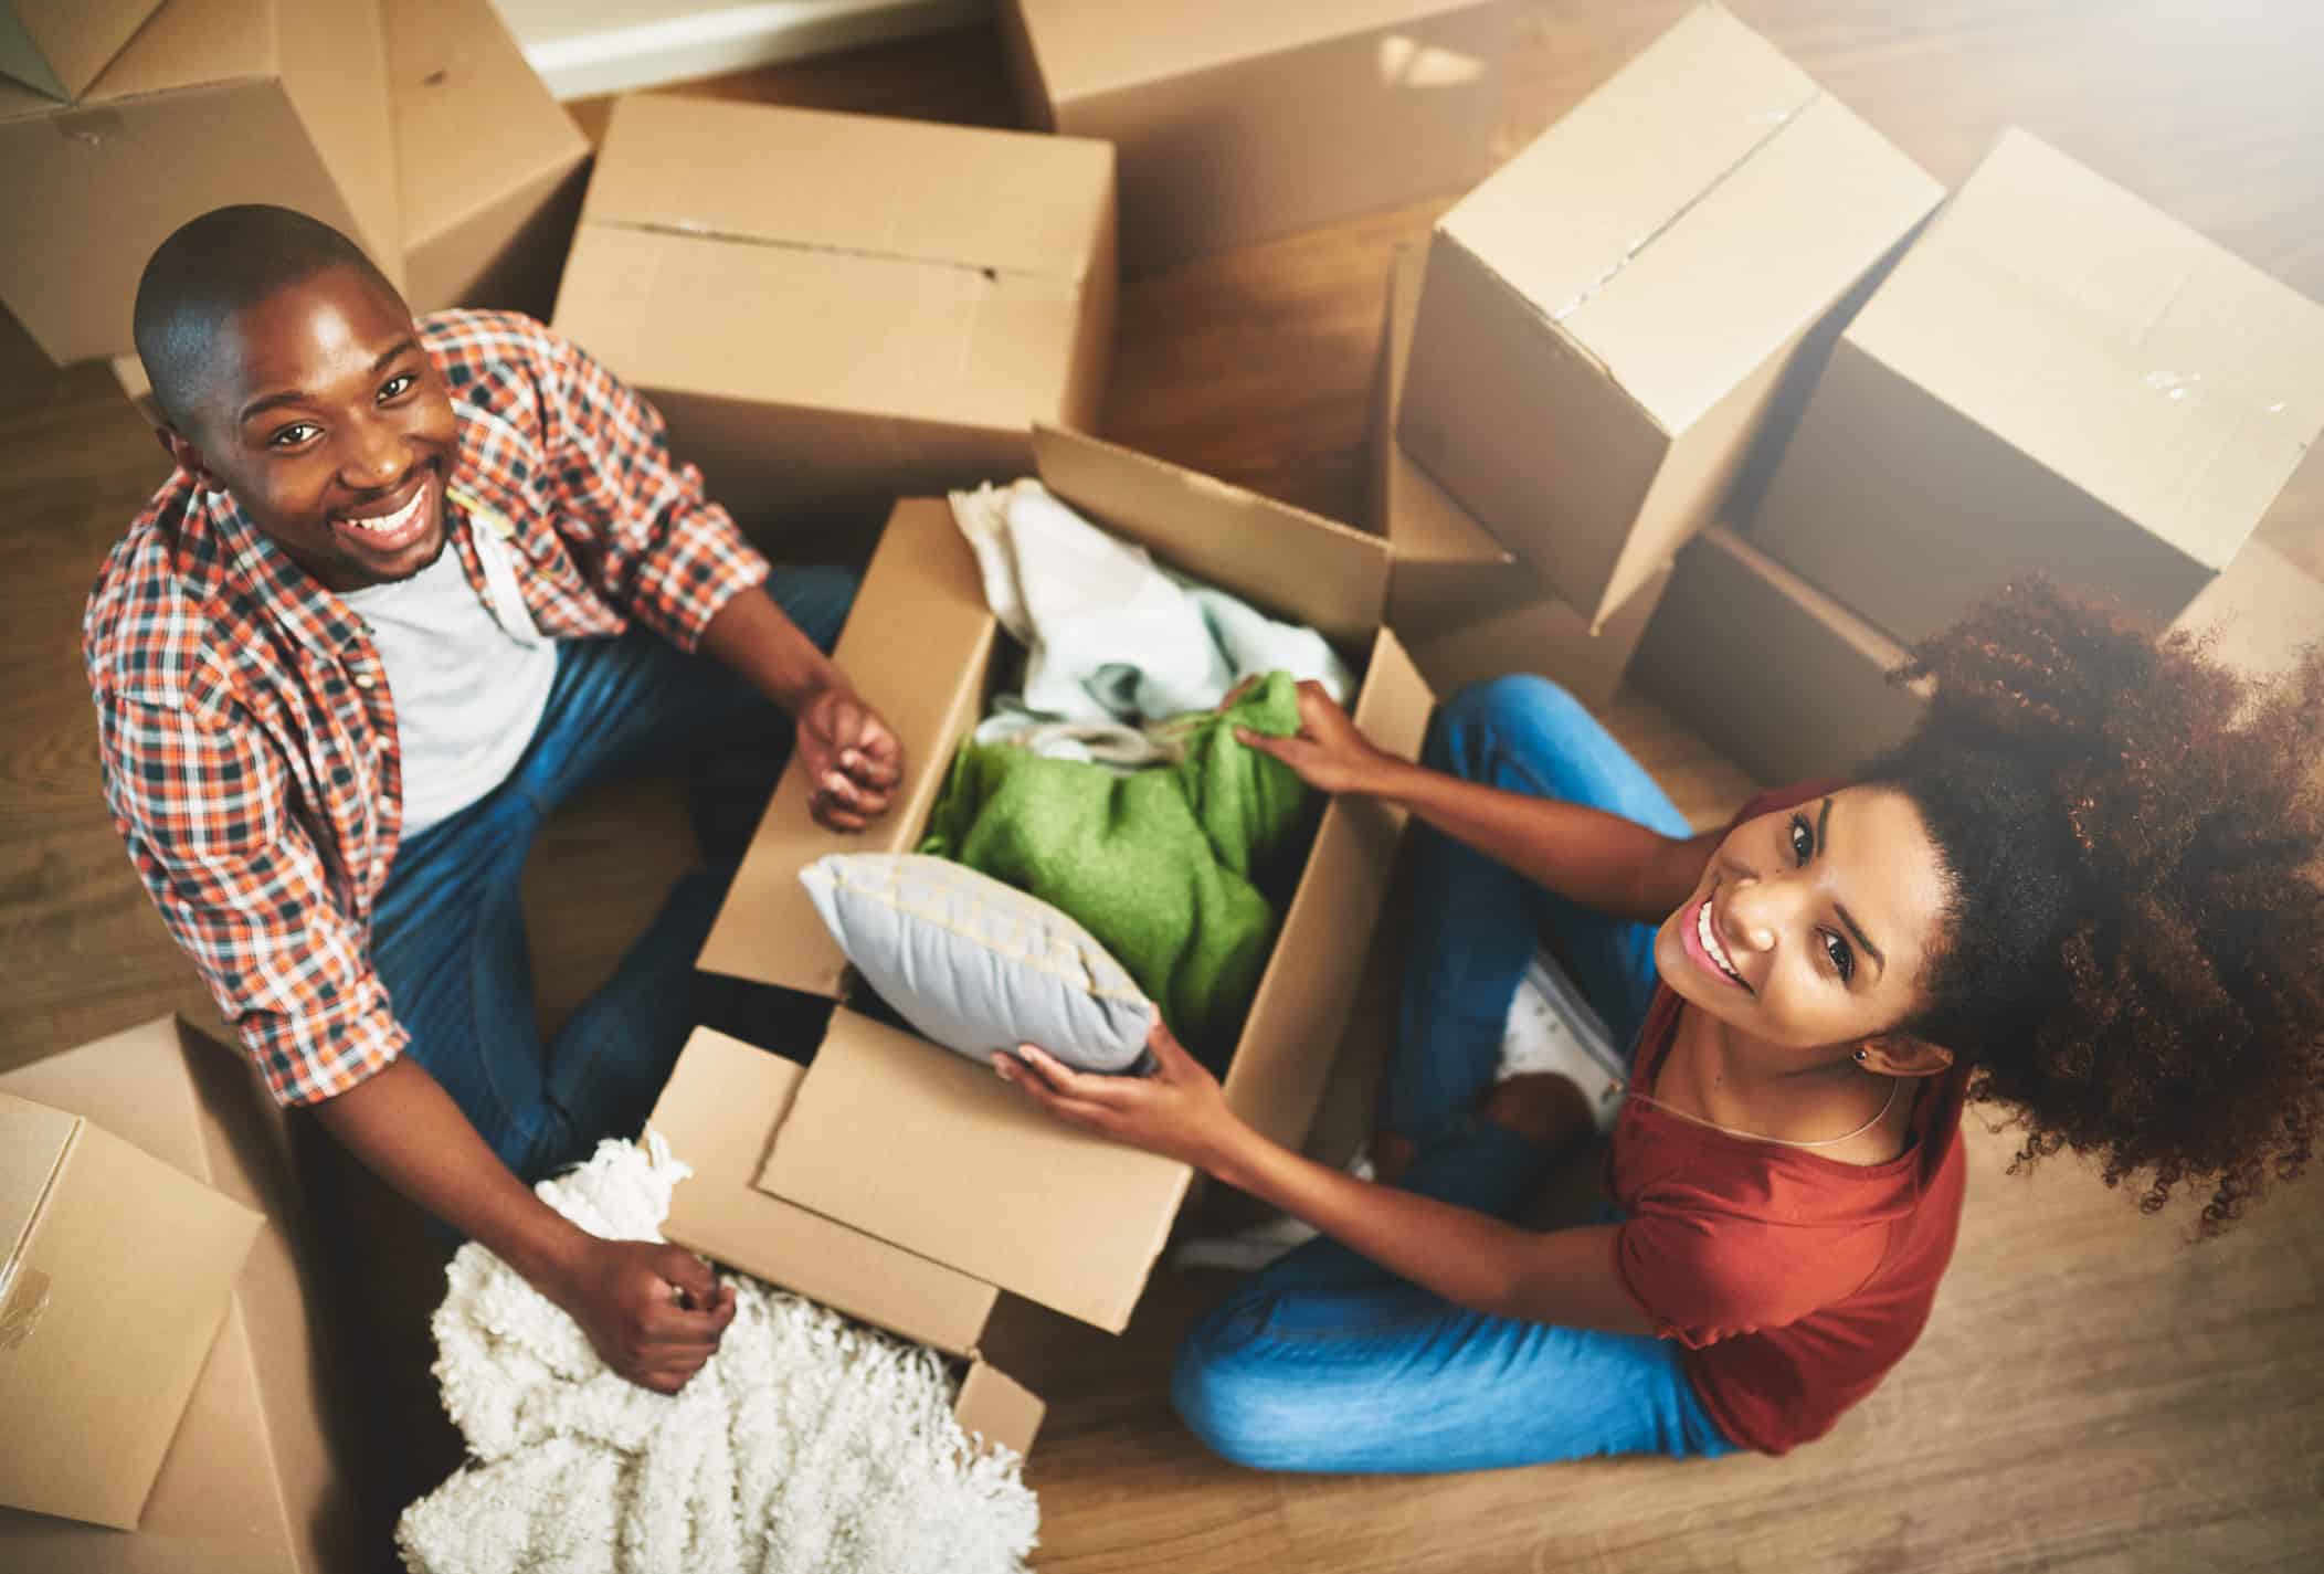
<svg viewBox="0 0 2324 1574"><path fill-rule="evenodd" d="M1116 535L1362 656L1387 616L1387 544L1197 470L1034 428L1041 481Z"/></svg>

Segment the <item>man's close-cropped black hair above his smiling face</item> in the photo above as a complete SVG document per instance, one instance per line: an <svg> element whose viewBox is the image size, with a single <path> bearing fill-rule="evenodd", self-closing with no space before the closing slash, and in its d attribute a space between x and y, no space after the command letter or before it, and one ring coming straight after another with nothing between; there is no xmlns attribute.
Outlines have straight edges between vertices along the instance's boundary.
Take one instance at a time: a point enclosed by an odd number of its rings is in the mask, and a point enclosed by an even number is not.
<svg viewBox="0 0 2324 1574"><path fill-rule="evenodd" d="M137 281L137 358L172 425L202 409L218 330L237 312L328 270L353 270L402 305L363 249L288 207L216 207L165 239Z"/></svg>

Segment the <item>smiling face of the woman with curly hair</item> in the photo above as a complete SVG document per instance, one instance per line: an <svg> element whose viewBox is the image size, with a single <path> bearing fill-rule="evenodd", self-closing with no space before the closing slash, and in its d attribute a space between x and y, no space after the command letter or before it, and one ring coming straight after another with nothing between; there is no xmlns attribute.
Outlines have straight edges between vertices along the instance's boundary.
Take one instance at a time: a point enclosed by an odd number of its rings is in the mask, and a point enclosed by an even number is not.
<svg viewBox="0 0 2324 1574"><path fill-rule="evenodd" d="M1655 932L1655 970L1755 1039L1831 1049L1920 1007L1943 916L1943 865L1913 802L1843 788L1736 825Z"/></svg>

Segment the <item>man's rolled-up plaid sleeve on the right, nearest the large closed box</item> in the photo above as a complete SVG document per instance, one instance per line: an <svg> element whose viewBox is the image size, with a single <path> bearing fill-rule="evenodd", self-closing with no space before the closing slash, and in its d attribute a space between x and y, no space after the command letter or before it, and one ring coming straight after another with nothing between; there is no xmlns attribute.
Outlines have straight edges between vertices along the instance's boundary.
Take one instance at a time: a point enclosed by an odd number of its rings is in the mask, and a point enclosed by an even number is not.
<svg viewBox="0 0 2324 1574"><path fill-rule="evenodd" d="M597 591L683 651L767 579L767 558L676 463L662 414L588 351L544 335L541 437L558 530Z"/></svg>

